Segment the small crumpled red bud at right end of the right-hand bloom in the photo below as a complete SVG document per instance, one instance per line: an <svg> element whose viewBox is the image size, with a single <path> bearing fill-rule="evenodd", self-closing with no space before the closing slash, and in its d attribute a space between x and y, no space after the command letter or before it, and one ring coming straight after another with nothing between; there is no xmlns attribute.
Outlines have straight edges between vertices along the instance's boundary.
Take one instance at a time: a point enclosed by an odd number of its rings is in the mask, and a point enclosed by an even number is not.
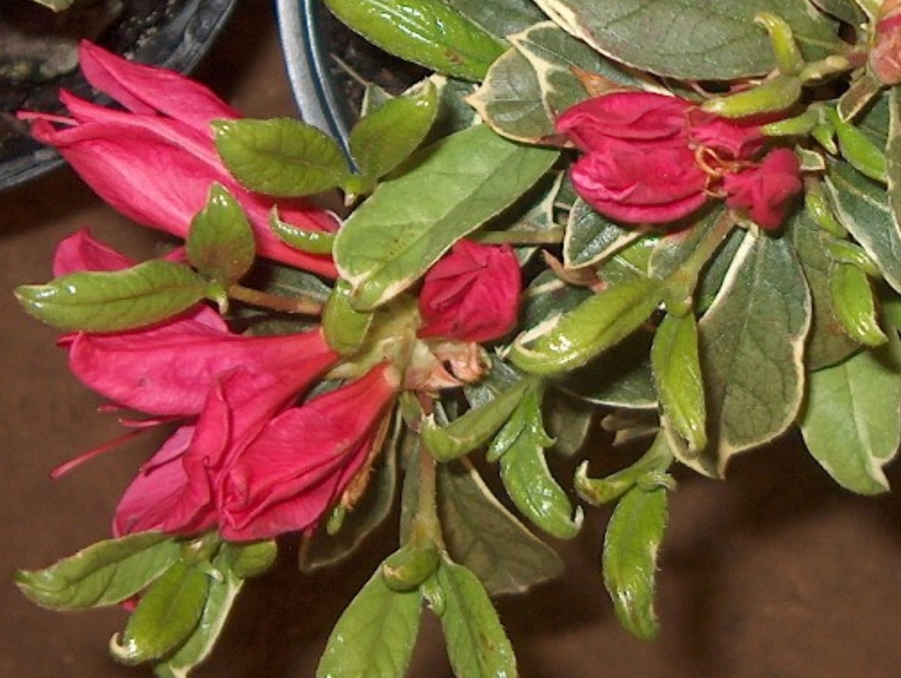
<svg viewBox="0 0 901 678"><path fill-rule="evenodd" d="M788 203L804 185L796 155L789 149L775 149L760 166L723 178L726 205L747 210L763 229L778 229L785 219Z"/></svg>

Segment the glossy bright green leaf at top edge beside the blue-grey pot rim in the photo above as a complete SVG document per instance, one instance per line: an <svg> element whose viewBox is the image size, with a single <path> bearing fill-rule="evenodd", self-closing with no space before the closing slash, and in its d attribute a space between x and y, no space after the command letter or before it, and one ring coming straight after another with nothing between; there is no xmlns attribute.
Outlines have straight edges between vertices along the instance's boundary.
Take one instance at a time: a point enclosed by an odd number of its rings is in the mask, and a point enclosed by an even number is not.
<svg viewBox="0 0 901 678"><path fill-rule="evenodd" d="M325 0L341 23L406 61L478 81L504 43L441 0Z"/></svg>

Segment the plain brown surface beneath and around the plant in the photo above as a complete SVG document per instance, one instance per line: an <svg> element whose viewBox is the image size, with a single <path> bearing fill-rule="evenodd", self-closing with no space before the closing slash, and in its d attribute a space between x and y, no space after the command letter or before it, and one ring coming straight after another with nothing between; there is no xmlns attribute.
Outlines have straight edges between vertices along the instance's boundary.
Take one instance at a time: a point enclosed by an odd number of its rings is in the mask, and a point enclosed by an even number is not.
<svg viewBox="0 0 901 678"><path fill-rule="evenodd" d="M271 7L242 0L198 77L248 115L294 113ZM21 312L14 285L50 277L56 243L89 225L132 255L153 235L100 203L68 169L0 195L0 676L123 678L106 641L120 610L65 615L16 592L16 567L48 565L107 536L119 493L159 444L131 443L57 483L60 462L121 432L66 370L56 333ZM155 434L154 434L155 435ZM596 455L612 454L598 447ZM623 457L624 458L624 457ZM895 484L897 469L890 472ZM890 678L901 675L901 499L835 487L795 439L738 459L727 484L680 475L661 556L660 638L616 624L598 572L606 511L589 511L567 574L500 610L526 678ZM389 530L390 532L390 530ZM301 576L287 553L242 593L198 678L306 678L342 607L392 547ZM450 676L426 624L413 678Z"/></svg>

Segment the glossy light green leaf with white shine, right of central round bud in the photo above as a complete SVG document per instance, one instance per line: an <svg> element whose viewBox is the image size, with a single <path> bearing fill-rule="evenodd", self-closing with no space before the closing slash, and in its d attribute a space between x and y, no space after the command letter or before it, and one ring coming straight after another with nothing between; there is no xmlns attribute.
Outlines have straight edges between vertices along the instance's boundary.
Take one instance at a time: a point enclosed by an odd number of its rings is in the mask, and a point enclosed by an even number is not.
<svg viewBox="0 0 901 678"><path fill-rule="evenodd" d="M520 335L510 353L513 364L536 375L555 375L585 365L612 348L660 305L665 285L636 277L594 294L550 327Z"/></svg>

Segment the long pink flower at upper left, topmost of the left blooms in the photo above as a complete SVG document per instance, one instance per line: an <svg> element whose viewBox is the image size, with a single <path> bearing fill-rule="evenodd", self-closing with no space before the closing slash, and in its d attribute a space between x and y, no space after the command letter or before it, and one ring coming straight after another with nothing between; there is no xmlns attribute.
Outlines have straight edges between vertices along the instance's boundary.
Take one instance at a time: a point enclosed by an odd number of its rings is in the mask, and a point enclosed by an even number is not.
<svg viewBox="0 0 901 678"><path fill-rule="evenodd" d="M273 201L235 181L216 153L210 122L239 117L204 86L177 73L132 64L82 42L81 68L97 89L127 112L91 104L68 92L60 100L70 117L20 113L32 135L54 146L107 203L147 226L184 238L219 182L247 212L259 253L291 266L336 276L331 258L291 249L269 231ZM333 231L328 212L304 200L278 203L279 216L315 231Z"/></svg>

